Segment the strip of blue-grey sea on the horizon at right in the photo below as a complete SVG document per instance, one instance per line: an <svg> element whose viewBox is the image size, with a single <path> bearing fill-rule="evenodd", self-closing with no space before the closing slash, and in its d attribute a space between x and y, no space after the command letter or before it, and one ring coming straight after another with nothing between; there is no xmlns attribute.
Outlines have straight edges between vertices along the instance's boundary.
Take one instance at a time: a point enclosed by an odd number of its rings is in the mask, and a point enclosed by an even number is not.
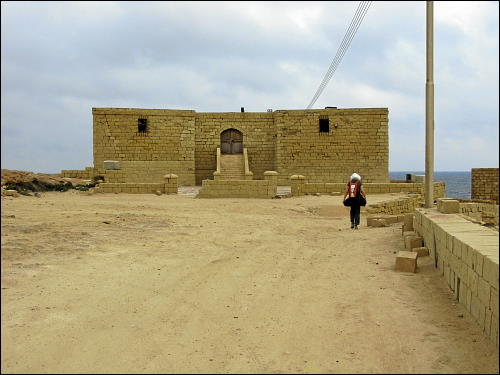
<svg viewBox="0 0 500 375"><path fill-rule="evenodd" d="M389 172L391 180L406 180L406 174L425 174L422 171L394 171ZM434 181L445 182L447 198L463 198L470 199L471 197L471 172L434 172Z"/></svg>

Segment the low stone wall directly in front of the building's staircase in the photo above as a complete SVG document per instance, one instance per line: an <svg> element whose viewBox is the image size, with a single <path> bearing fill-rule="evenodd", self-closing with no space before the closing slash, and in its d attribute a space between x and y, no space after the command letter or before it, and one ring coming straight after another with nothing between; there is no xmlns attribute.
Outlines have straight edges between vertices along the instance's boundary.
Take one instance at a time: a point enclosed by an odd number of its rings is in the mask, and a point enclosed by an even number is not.
<svg viewBox="0 0 500 375"><path fill-rule="evenodd" d="M277 194L278 173L264 172L264 180L203 180L199 198L272 198Z"/></svg>

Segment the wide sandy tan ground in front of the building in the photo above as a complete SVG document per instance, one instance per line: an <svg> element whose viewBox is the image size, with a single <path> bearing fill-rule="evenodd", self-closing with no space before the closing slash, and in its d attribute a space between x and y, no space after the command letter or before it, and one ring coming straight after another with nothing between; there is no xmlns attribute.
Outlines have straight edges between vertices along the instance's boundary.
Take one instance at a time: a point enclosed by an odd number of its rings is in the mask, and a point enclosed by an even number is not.
<svg viewBox="0 0 500 375"><path fill-rule="evenodd" d="M2 373L498 373L429 258L394 271L401 224L340 199L2 197Z"/></svg>

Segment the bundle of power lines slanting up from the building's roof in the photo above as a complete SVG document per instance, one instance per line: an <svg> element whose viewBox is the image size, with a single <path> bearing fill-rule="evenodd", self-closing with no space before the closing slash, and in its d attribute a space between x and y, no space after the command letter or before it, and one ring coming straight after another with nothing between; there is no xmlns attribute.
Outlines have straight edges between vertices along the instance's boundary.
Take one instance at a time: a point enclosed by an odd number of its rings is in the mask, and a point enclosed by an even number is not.
<svg viewBox="0 0 500 375"><path fill-rule="evenodd" d="M321 81L321 84L319 85L318 89L316 90L316 93L314 94L311 102L307 106L307 109L310 109L314 103L316 103L316 100L320 97L321 93L325 89L325 87L328 85L328 82L332 78L333 74L337 70L337 67L340 64L340 61L344 57L344 54L346 53L347 49L349 48L352 39L354 38L354 35L359 29L359 26L361 25L361 22L363 21L363 18L365 17L366 13L368 12L368 8L370 8L371 1L361 1L358 5L358 8L356 9L356 12L354 14L354 17L351 20L351 24L349 25L349 28L347 29L344 38L342 39L342 43L340 44L337 53L335 54L335 58L333 59L332 63L330 64L330 67L328 68L328 71L326 72L325 76L323 77L323 80Z"/></svg>

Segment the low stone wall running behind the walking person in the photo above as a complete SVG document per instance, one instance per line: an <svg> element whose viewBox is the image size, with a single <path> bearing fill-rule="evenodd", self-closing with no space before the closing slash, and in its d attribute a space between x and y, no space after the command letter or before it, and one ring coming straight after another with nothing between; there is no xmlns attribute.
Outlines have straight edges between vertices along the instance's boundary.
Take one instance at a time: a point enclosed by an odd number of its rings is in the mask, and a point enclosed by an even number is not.
<svg viewBox="0 0 500 375"><path fill-rule="evenodd" d="M306 177L302 175L293 175L290 177L292 195L299 196L304 194L330 194L332 192L344 193L345 183L307 183ZM366 194L387 194L387 193L425 193L425 185L420 183L364 183L363 190ZM445 196L445 183L434 182L434 198Z"/></svg>

